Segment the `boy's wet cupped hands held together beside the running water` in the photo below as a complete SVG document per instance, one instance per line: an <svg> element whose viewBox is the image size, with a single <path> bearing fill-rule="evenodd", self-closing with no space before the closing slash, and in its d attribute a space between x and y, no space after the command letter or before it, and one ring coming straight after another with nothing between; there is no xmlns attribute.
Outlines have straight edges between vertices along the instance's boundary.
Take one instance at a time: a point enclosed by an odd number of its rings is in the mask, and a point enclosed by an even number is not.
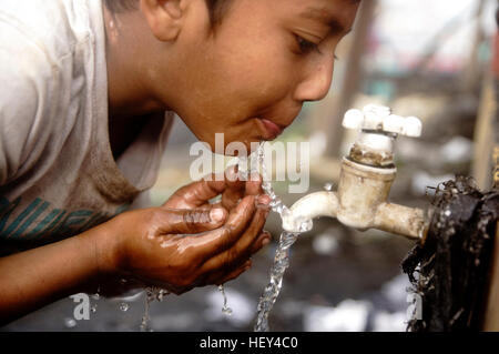
<svg viewBox="0 0 499 354"><path fill-rule="evenodd" d="M223 284L246 271L251 255L271 239L263 232L269 198L258 195L257 179L213 180L182 188L161 208L103 224L108 234L121 234L108 246L113 251L104 264L176 294ZM211 204L217 195L221 201Z"/></svg>

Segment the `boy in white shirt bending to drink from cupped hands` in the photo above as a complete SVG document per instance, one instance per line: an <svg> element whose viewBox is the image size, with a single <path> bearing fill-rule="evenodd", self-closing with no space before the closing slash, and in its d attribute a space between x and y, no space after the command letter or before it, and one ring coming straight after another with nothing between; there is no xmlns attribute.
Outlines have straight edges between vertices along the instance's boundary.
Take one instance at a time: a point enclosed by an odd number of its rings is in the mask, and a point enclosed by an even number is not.
<svg viewBox="0 0 499 354"><path fill-rule="evenodd" d="M269 241L261 182L121 212L152 186L172 112L212 149L249 146L323 99L358 2L3 0L1 321L110 277L180 294L248 269Z"/></svg>

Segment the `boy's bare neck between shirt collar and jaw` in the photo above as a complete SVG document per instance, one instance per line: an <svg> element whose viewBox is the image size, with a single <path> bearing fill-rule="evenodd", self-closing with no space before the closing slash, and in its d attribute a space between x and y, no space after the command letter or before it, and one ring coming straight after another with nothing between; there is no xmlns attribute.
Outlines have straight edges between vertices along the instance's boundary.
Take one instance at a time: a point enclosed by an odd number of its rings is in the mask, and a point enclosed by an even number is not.
<svg viewBox="0 0 499 354"><path fill-rule="evenodd" d="M111 13L105 6L109 115L122 120L165 111L147 84L146 50L153 38L140 10ZM149 44L149 45L147 45Z"/></svg>

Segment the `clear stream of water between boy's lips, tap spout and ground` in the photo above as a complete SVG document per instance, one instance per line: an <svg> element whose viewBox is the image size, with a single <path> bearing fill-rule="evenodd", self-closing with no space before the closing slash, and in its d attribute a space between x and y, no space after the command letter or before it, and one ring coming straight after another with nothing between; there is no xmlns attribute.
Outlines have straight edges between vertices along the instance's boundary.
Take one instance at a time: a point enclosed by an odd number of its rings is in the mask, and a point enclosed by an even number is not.
<svg viewBox="0 0 499 354"><path fill-rule="evenodd" d="M283 203L272 188L272 183L267 178L267 171L265 166L265 150L264 144L258 146L256 154L252 159L252 169L257 166L262 170L263 183L262 188L264 192L271 198L272 211L279 214L282 219L289 216L289 209ZM305 221L299 225L301 232L306 232L312 229L312 221ZM301 232L286 232L281 234L279 243L275 252L274 264L271 269L271 280L265 287L262 296L259 297L257 306L257 318L255 324L255 332L268 332L268 314L277 300L283 286L283 276L286 269L289 266L289 247L296 242Z"/></svg>

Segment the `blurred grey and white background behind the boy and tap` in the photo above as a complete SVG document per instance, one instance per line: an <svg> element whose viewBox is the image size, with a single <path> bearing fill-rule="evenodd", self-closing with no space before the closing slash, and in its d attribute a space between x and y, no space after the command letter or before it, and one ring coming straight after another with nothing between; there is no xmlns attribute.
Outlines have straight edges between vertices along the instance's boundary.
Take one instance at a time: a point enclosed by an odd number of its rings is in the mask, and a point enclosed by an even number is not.
<svg viewBox="0 0 499 354"><path fill-rule="evenodd" d="M390 200L427 208L431 189L455 174L491 186L496 100L492 58L497 0L364 1L355 30L342 43L329 95L306 104L279 141L309 141L310 188L339 176L340 158L355 134L342 128L349 108L367 103L393 108L424 122L420 139L396 143L397 179ZM496 79L497 80L497 79ZM155 205L190 183L196 139L177 119L163 169L151 191ZM276 163L277 166L283 165ZM301 194L274 183L287 205ZM409 300L400 263L414 242L379 231L358 232L335 220L318 220L292 247L283 290L271 313L272 331L405 331ZM268 282L281 221L266 224L274 242L253 257L253 269L225 284L231 316L215 286L169 295L151 304L154 331L252 331L256 304ZM64 299L16 321L2 331L139 331L144 292L116 299L91 297L90 321L74 321ZM126 310L126 311L124 311Z"/></svg>

